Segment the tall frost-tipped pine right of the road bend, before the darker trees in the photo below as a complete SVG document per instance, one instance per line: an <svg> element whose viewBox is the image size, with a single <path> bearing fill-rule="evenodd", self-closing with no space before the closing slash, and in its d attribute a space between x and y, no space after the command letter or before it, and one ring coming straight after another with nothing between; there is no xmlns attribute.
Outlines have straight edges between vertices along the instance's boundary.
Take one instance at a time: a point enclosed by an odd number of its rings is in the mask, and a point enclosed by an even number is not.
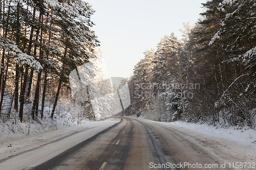
<svg viewBox="0 0 256 170"><path fill-rule="evenodd" d="M162 108L168 111L164 115L165 120L172 120L172 117L180 118L184 111L184 82L181 71L182 42L172 33L164 36L158 43L157 51L153 62L153 80L158 83L157 92L159 100L165 103Z"/></svg>

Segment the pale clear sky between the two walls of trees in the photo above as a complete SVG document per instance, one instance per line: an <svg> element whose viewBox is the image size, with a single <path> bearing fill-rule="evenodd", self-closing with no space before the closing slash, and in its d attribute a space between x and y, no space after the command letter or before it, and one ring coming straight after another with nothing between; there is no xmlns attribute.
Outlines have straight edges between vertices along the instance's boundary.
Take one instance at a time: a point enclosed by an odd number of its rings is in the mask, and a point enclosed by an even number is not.
<svg viewBox="0 0 256 170"><path fill-rule="evenodd" d="M100 40L106 69L110 77L127 78L147 49L156 49L164 35L174 33L183 22L195 25L204 12L206 0L87 0L96 11L92 29Z"/></svg>

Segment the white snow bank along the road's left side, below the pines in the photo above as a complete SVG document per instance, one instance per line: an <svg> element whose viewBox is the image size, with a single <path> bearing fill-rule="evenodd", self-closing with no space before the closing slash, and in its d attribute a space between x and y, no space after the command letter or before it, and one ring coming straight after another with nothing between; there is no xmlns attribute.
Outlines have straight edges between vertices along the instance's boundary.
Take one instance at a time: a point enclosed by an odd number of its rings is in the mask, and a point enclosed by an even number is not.
<svg viewBox="0 0 256 170"><path fill-rule="evenodd" d="M59 140L63 137L104 125L109 121L111 120L106 119L96 122L83 120L81 125L65 124L61 120L58 120L55 125L40 125L36 123L30 123L28 125L28 123L21 124L19 121L16 124L10 122L1 123L0 162L8 157L38 148L41 145ZM30 132L28 131L29 126Z"/></svg>

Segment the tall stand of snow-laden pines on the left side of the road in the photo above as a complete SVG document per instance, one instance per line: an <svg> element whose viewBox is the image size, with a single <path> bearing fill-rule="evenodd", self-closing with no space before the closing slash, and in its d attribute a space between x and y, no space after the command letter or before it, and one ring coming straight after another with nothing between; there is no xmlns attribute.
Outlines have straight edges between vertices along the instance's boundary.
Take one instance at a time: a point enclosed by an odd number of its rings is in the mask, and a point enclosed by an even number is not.
<svg viewBox="0 0 256 170"><path fill-rule="evenodd" d="M80 0L1 0L0 11L0 117L53 118L70 71L96 58L95 11Z"/></svg>

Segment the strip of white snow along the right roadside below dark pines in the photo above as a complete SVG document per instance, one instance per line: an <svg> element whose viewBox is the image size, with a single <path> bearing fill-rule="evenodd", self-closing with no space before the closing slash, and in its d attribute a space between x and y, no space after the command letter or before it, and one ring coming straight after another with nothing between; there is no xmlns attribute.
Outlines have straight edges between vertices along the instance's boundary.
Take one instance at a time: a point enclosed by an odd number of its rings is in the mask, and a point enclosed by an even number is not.
<svg viewBox="0 0 256 170"><path fill-rule="evenodd" d="M234 127L219 128L209 126L206 124L194 124L185 122L161 122L164 125L173 125L181 128L186 128L200 134L208 135L210 137L224 138L231 141L236 141L240 144L256 147L256 131L249 128L237 129Z"/></svg>

